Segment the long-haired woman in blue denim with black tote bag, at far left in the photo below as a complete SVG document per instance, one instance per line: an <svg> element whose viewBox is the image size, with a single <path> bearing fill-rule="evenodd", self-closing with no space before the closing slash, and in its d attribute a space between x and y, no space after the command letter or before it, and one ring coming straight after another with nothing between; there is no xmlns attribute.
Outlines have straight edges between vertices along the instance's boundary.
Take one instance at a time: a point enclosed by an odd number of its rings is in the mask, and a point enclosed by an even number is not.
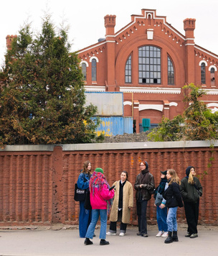
<svg viewBox="0 0 218 256"><path fill-rule="evenodd" d="M92 175L92 166L90 161L85 161L80 175L77 179L77 187L80 189L87 190L89 188L89 181ZM84 238L87 232L87 227L89 226L92 219L92 210L87 210L84 207L85 200L80 201L80 216L79 216L79 232L80 237Z"/></svg>

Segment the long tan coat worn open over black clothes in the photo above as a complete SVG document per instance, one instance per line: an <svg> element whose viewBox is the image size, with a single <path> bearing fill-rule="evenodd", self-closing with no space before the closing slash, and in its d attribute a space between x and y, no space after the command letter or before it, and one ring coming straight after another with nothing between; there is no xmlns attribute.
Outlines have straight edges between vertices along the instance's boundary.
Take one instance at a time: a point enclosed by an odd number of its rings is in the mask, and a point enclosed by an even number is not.
<svg viewBox="0 0 218 256"><path fill-rule="evenodd" d="M120 193L120 180L113 183L115 185L115 194L113 198L113 205L110 212L110 221L118 221L118 203L119 203L119 193ZM133 186L126 180L123 187L123 216L122 222L129 223L131 219L131 209L133 207Z"/></svg>

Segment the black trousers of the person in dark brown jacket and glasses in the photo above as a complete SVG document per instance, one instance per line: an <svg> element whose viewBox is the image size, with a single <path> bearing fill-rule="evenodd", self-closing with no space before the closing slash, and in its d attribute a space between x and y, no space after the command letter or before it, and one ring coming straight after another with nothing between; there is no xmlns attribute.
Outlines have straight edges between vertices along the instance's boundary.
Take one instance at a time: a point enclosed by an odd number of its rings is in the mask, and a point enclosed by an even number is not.
<svg viewBox="0 0 218 256"><path fill-rule="evenodd" d="M147 232L147 200L137 200L136 201L136 208L137 208L137 215L138 215L138 231L141 234L148 234Z"/></svg>

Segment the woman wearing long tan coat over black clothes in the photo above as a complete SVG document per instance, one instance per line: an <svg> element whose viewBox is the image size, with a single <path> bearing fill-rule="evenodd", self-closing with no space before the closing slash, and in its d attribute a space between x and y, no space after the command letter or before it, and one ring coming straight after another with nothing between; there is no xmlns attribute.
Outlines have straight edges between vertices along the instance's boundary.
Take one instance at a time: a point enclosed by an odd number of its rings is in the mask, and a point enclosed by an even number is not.
<svg viewBox="0 0 218 256"><path fill-rule="evenodd" d="M128 173L123 170L120 174L120 180L113 183L115 186L115 196L110 212L110 229L107 235L115 235L117 232L117 221L120 221L120 237L126 232L127 224L131 217L131 208L133 207L133 186L128 181Z"/></svg>

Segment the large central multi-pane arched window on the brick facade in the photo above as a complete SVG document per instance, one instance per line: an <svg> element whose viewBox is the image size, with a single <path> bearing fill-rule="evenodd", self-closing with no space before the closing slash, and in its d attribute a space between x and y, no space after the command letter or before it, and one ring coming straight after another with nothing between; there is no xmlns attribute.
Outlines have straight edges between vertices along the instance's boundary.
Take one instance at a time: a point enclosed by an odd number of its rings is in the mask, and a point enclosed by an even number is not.
<svg viewBox="0 0 218 256"><path fill-rule="evenodd" d="M138 48L138 82L161 83L161 49L158 47Z"/></svg>

